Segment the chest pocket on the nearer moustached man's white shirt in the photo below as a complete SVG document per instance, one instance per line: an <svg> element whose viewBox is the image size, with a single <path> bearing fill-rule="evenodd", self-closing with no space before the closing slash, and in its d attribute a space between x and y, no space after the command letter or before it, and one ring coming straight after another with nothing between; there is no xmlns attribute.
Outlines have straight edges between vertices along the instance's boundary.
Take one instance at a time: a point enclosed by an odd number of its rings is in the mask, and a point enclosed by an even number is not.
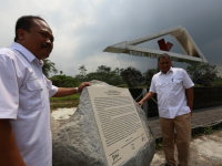
<svg viewBox="0 0 222 166"><path fill-rule="evenodd" d="M42 106L41 93L43 91L39 80L29 80L27 82L28 89L28 110L38 111Z"/></svg>

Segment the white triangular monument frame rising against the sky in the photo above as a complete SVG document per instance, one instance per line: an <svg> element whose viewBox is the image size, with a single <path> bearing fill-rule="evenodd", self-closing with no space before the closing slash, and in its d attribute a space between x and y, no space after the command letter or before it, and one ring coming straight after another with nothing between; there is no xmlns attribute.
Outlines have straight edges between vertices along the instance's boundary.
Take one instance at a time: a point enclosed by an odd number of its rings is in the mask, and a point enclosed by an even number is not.
<svg viewBox="0 0 222 166"><path fill-rule="evenodd" d="M175 38L175 40L181 45L185 54L148 49L138 45L168 34ZM124 41L110 45L107 49L104 49L103 52L127 53L130 55L147 56L153 59L157 59L160 54L168 53L171 56L172 61L186 62L186 63L200 63L200 62L208 63L205 56L201 53L201 51L192 40L191 35L188 33L185 28L181 25L163 30L153 34L149 34L142 38L138 38L134 40Z"/></svg>

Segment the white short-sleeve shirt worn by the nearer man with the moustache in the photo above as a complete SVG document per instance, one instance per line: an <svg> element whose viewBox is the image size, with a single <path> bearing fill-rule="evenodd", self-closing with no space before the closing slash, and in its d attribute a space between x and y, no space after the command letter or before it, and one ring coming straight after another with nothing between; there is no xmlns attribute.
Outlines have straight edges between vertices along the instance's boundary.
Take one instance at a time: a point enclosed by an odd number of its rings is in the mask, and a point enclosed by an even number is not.
<svg viewBox="0 0 222 166"><path fill-rule="evenodd" d="M42 74L39 61L19 43L0 49L0 118L10 120L27 166L52 165L49 97L58 87Z"/></svg>

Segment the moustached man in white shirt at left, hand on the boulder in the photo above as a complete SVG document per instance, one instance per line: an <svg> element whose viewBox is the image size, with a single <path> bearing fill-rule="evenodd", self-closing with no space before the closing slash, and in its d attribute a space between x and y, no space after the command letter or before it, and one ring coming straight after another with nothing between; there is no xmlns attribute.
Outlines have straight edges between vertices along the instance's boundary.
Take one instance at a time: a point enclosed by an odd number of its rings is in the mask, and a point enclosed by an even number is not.
<svg viewBox="0 0 222 166"><path fill-rule="evenodd" d="M53 49L53 34L40 17L26 15L16 24L14 43L0 49L0 165L51 166L49 97L81 92L56 87L42 74L43 59Z"/></svg>

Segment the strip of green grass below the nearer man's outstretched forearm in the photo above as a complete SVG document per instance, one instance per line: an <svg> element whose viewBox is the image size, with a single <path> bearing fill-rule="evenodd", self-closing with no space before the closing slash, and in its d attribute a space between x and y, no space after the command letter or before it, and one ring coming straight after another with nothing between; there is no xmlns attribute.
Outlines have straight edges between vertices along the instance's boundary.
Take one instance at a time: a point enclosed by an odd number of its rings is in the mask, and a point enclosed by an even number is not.
<svg viewBox="0 0 222 166"><path fill-rule="evenodd" d="M51 97L50 108L51 111L59 107L77 107L79 105L80 94L73 94L65 97Z"/></svg>

